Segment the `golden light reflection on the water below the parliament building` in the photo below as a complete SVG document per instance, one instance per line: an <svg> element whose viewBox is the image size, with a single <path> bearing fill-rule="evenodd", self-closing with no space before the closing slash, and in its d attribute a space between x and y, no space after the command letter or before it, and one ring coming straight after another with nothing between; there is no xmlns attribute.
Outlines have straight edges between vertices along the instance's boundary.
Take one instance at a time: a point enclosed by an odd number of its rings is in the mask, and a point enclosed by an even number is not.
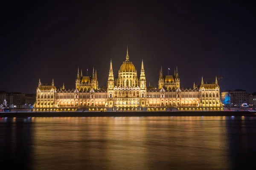
<svg viewBox="0 0 256 170"><path fill-rule="evenodd" d="M152 169L154 164L223 168L226 117L37 117L37 166L62 161L107 169ZM166 167L166 166L164 166ZM61 169L61 168L60 168ZM162 167L163 169L163 167Z"/></svg>

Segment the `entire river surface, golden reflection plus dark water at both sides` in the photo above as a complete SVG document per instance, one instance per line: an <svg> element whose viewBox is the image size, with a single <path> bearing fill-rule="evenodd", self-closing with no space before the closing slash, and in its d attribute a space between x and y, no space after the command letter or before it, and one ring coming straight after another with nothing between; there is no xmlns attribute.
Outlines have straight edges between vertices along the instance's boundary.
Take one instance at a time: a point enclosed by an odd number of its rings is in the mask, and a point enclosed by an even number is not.
<svg viewBox="0 0 256 170"><path fill-rule="evenodd" d="M245 170L255 157L256 117L0 118L1 169Z"/></svg>

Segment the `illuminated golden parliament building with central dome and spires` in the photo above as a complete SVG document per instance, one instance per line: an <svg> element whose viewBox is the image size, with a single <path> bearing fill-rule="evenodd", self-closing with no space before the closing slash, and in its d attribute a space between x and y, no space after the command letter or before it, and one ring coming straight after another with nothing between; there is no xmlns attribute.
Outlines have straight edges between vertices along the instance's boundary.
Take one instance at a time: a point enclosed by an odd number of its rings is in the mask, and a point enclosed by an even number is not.
<svg viewBox="0 0 256 170"><path fill-rule="evenodd" d="M176 68L174 75L163 76L162 68L158 88L146 86L143 60L140 77L127 54L120 66L118 77L114 77L112 61L108 74L108 85L99 88L97 73L83 76L77 72L76 88L56 88L43 84L39 79L36 90L34 111L221 111L220 87L215 82L193 88L180 88L180 78Z"/></svg>

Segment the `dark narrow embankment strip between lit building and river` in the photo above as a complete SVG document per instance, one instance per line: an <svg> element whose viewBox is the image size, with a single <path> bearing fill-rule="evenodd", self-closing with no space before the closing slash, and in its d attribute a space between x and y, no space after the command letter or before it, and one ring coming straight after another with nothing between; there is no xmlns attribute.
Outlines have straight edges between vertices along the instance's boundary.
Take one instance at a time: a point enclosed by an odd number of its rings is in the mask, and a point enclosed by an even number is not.
<svg viewBox="0 0 256 170"><path fill-rule="evenodd" d="M256 116L251 111L194 112L3 112L0 117Z"/></svg>

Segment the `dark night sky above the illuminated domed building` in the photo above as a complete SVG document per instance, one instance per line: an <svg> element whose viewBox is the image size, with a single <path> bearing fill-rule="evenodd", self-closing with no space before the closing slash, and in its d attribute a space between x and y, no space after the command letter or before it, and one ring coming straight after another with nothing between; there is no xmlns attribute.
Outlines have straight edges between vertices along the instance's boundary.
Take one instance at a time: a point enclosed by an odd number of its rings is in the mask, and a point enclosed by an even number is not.
<svg viewBox="0 0 256 170"><path fill-rule="evenodd" d="M35 93L38 79L75 88L77 67L107 84L126 56L147 85L178 66L181 87L215 81L256 91L255 6L235 1L15 1L1 4L0 90ZM138 74L140 76L140 74Z"/></svg>

